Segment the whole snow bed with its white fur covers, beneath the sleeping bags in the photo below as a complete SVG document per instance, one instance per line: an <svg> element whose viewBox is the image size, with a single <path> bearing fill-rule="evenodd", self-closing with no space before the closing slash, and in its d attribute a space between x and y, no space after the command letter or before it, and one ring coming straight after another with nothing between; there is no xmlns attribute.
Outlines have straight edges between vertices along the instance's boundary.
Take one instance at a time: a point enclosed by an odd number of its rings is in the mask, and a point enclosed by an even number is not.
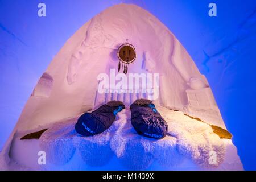
<svg viewBox="0 0 256 182"><path fill-rule="evenodd" d="M162 106L157 109L169 127L170 135L163 139L138 135L131 125L130 109L123 109L108 130L93 137L82 137L76 133L74 125L77 118L34 129L48 128L39 140L19 140L33 130L17 133L11 144L11 161L32 170L107 170L114 165L114 159L118 165L113 169L242 169L231 140L220 139L208 124L191 119L181 111ZM39 150L46 151L46 166L36 163ZM210 151L217 154L216 164L209 163ZM27 160L27 155L30 155L30 160ZM233 157L227 159L227 156Z"/></svg>

